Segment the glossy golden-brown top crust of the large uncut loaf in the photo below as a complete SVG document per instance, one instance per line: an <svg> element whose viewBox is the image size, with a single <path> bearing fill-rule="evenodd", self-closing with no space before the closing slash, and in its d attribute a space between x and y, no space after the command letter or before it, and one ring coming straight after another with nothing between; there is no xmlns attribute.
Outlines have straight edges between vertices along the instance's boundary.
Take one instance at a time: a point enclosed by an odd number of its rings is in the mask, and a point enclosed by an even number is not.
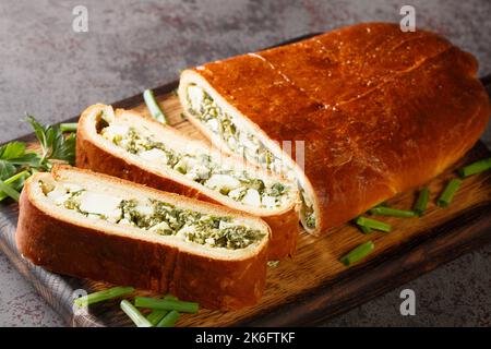
<svg viewBox="0 0 491 349"><path fill-rule="evenodd" d="M471 55L395 24L349 26L193 71L272 140L304 141L323 231L442 172L490 115Z"/></svg>

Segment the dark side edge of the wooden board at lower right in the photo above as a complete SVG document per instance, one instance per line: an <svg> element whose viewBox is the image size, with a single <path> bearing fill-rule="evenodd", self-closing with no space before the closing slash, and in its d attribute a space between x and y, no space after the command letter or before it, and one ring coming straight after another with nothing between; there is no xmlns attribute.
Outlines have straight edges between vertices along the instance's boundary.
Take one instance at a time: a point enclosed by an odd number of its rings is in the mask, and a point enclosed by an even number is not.
<svg viewBox="0 0 491 349"><path fill-rule="evenodd" d="M491 212L491 202L470 207L418 238L352 267L334 282L327 282L310 292L298 294L286 304L263 314L256 314L253 318L243 320L232 326L319 325L465 253L491 243L489 212ZM444 241L443 244L442 241ZM421 258L421 255L424 257ZM391 261L391 264L385 264L385 261ZM394 269L397 272L394 273ZM386 279L387 275L391 276L390 282ZM367 289L370 289L370 292L367 293Z"/></svg>

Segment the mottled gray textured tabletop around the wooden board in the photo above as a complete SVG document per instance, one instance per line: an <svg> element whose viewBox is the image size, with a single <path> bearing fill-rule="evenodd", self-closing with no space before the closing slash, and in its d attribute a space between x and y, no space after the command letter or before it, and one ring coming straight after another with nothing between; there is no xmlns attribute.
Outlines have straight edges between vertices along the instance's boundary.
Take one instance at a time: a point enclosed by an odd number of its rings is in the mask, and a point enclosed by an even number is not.
<svg viewBox="0 0 491 349"><path fill-rule="evenodd" d="M309 32L362 21L399 21L405 1L2 1L0 142L29 132L25 111L44 122L73 117L178 76L189 65L251 51ZM450 37L491 73L491 1L410 1L417 27ZM88 33L72 10L88 9ZM491 129L483 136L491 145ZM369 301L328 323L491 326L491 245ZM399 292L414 289L416 316L402 316ZM0 326L62 321L0 254Z"/></svg>

